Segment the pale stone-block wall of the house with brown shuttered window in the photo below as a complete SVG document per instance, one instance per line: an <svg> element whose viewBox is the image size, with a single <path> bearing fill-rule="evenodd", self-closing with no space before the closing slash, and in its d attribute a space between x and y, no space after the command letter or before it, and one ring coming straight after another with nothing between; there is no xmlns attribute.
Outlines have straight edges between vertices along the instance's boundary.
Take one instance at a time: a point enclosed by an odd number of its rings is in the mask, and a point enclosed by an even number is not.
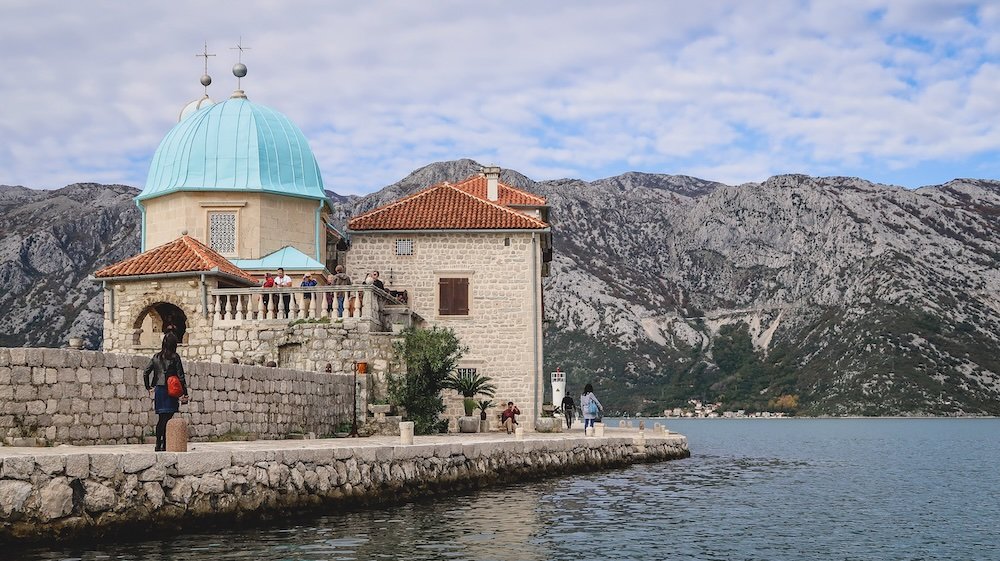
<svg viewBox="0 0 1000 561"><path fill-rule="evenodd" d="M397 255L397 240L412 242L410 255ZM355 232L348 273L363 278L378 270L387 289L407 291L410 308L427 325L453 329L468 347L459 367L492 378L494 401L515 402L530 427L545 383L540 241L538 234L518 231ZM442 278L468 279L468 315L439 313ZM462 413L460 398L451 395L447 403L446 414Z"/></svg>

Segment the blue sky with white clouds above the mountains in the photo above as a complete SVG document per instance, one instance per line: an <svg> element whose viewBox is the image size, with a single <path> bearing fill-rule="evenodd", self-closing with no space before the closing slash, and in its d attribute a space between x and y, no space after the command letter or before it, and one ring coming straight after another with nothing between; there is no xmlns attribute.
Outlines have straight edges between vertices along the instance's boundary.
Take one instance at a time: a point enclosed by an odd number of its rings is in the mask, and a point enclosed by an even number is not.
<svg viewBox="0 0 1000 561"><path fill-rule="evenodd" d="M534 179L779 173L916 187L1000 177L1000 8L918 0L0 5L0 184L141 187L240 36L252 101L326 187L439 160Z"/></svg>

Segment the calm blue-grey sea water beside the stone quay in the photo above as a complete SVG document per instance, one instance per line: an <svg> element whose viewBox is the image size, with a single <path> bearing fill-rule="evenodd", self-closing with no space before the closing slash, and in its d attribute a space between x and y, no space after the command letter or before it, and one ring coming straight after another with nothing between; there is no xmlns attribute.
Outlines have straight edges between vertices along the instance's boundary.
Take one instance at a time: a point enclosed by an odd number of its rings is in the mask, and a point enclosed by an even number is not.
<svg viewBox="0 0 1000 561"><path fill-rule="evenodd" d="M667 424L688 436L690 459L295 523L12 558L1000 559L1000 420ZM2 549L0 558L8 558Z"/></svg>

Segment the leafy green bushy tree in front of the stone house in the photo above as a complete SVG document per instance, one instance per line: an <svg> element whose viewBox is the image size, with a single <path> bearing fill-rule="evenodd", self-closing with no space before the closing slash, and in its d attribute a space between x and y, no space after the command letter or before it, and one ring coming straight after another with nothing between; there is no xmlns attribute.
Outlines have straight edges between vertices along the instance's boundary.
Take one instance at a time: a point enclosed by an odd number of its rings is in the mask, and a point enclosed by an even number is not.
<svg viewBox="0 0 1000 561"><path fill-rule="evenodd" d="M444 412L441 390L448 387L446 380L467 349L447 328L410 328L402 335L396 352L406 363L406 375L390 379L389 395L406 408L416 434L443 432L448 422L438 417Z"/></svg>

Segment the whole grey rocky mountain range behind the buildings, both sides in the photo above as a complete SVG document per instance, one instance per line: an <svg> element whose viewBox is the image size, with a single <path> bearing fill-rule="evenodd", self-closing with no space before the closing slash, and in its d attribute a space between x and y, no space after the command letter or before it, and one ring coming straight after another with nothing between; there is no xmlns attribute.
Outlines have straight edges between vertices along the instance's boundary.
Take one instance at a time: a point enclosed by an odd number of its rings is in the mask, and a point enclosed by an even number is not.
<svg viewBox="0 0 1000 561"><path fill-rule="evenodd" d="M432 164L336 218L479 164ZM813 414L1000 413L1000 183L778 176L502 180L552 207L546 370L613 408L689 398ZM3 344L96 343L84 277L138 249L135 190L0 188ZM60 298L60 294L68 297ZM65 300L65 302L64 302Z"/></svg>

